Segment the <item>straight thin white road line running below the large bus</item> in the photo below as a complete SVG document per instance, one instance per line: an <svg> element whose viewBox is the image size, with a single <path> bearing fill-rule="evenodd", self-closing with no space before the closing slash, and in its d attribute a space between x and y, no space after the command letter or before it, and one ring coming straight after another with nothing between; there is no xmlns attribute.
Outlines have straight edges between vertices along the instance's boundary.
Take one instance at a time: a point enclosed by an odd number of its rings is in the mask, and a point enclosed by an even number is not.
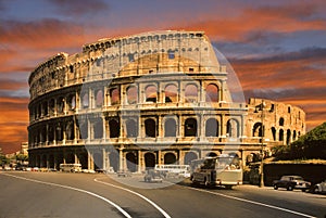
<svg viewBox="0 0 326 218"><path fill-rule="evenodd" d="M254 202L254 201L251 201L251 200L240 198L240 197L236 197L236 196L229 196L229 195L226 195L226 194L221 194L221 193L217 193L217 192L211 192L211 191L202 190L202 189L196 189L196 188L192 188L192 187L187 187L187 188L199 191L199 192L205 192L205 193L220 195L220 196L231 198L231 200L237 200L237 201L240 201L240 202L246 202L246 203L250 203L250 204L255 204L255 205L268 207L268 208L272 208L272 209L278 209L278 210L281 210L281 211L287 211L287 213L299 215L299 216L302 216L302 217L316 218L314 216L302 214L300 211L294 211L294 210L291 210L291 209L277 207L277 206L274 206L274 205L268 205L268 204L264 204L264 203L260 203L260 202Z"/></svg>

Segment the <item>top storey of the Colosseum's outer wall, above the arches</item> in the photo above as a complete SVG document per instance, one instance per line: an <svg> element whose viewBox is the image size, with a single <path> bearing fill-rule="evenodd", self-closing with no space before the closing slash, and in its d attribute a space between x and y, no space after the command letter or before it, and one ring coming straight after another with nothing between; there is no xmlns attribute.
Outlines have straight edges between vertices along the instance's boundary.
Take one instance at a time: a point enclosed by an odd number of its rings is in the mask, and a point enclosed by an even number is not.
<svg viewBox="0 0 326 218"><path fill-rule="evenodd" d="M222 73L214 49L203 31L153 31L100 39L83 52L59 53L39 64L29 76L30 99L53 89L116 77L184 72Z"/></svg>

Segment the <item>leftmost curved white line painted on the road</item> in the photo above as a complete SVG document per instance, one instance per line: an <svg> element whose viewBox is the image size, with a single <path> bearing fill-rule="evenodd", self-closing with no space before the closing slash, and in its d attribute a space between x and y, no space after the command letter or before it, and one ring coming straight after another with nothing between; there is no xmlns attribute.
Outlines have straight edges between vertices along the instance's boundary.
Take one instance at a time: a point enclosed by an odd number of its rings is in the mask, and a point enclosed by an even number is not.
<svg viewBox="0 0 326 218"><path fill-rule="evenodd" d="M121 211L125 217L131 218L131 216L128 213L126 213L123 208L121 208L117 204L115 204L115 203L111 202L110 200L108 200L108 198L105 198L105 197L103 197L101 195L98 195L96 193L92 193L92 192L89 192L89 191L86 191L86 190L83 190L83 189L77 189L77 188L74 188L74 187L68 187L68 185L63 185L63 184L57 184L57 183L52 183L52 182L39 181L39 180L28 179L28 178L25 178L25 177L18 177L18 176L9 175L9 174L1 174L1 175L9 176L9 177L14 177L16 179L22 179L22 180L26 180L26 181L36 182L36 183L48 184L48 185L52 185L52 187L60 187L60 188L63 188L63 189L70 189L70 190L74 190L74 191L82 192L82 193L85 193L85 194L89 194L91 196L98 197L98 198L100 198L100 200L102 200L102 201L111 204L118 211Z"/></svg>

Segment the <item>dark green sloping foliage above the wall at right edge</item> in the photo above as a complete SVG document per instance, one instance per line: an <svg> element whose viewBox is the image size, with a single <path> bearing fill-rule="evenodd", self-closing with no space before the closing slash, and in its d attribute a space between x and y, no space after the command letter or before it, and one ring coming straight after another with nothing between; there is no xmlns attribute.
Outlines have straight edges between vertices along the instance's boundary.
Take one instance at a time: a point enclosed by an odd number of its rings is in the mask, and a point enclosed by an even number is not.
<svg viewBox="0 0 326 218"><path fill-rule="evenodd" d="M275 146L275 159L326 159L326 123L314 128L290 146Z"/></svg>

